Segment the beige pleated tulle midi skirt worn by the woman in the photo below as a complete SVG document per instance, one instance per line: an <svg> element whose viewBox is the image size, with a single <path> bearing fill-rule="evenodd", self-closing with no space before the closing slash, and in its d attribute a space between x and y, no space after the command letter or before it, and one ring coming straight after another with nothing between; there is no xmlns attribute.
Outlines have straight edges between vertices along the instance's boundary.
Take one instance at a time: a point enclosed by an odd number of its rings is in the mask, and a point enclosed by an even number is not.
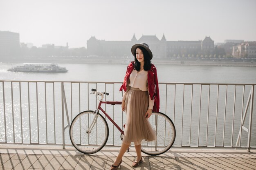
<svg viewBox="0 0 256 170"><path fill-rule="evenodd" d="M124 144L134 142L140 145L142 140L155 140L155 131L145 113L148 110L148 92L132 88L126 93L126 125L124 128Z"/></svg>

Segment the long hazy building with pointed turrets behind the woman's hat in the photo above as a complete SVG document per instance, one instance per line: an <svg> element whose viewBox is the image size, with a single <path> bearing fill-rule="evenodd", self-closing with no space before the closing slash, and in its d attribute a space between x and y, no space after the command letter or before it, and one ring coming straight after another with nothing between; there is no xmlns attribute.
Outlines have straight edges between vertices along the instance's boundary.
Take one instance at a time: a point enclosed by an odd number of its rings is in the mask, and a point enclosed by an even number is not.
<svg viewBox="0 0 256 170"><path fill-rule="evenodd" d="M210 37L198 41L166 41L165 36L159 40L155 35L142 35L139 40L135 34L130 41L105 41L91 37L87 41L88 55L97 56L132 56L133 44L145 42L155 57L213 55L214 41Z"/></svg>

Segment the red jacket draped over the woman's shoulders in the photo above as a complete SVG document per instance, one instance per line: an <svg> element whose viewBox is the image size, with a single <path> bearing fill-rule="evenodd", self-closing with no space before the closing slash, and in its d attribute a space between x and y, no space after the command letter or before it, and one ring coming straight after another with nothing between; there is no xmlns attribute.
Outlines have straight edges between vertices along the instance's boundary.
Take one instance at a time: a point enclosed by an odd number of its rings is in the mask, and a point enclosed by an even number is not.
<svg viewBox="0 0 256 170"><path fill-rule="evenodd" d="M126 75L124 77L124 83L120 87L120 91L124 89L127 90L127 80L130 78L130 74L134 70L134 62L131 62L127 66ZM157 68L155 68L154 64L151 64L150 70L148 70L148 90L151 99L154 99L153 112L159 112L159 88L158 88L158 79L157 79Z"/></svg>

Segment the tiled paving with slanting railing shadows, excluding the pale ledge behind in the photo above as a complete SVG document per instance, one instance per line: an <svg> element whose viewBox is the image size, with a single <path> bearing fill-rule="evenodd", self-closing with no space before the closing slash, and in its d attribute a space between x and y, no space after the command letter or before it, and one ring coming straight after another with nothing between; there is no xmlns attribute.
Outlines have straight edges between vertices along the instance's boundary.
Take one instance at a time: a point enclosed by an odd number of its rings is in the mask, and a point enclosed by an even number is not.
<svg viewBox="0 0 256 170"><path fill-rule="evenodd" d="M109 170L115 156L0 154L0 170ZM123 158L121 170L135 157ZM137 170L255 170L256 158L143 157Z"/></svg>

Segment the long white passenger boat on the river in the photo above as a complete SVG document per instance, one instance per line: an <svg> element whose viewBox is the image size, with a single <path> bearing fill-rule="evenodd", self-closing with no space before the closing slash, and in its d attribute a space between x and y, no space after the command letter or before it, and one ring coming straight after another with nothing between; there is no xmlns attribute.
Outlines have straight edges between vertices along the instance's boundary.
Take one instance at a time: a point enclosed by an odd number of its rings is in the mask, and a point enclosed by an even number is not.
<svg viewBox="0 0 256 170"><path fill-rule="evenodd" d="M45 64L45 63L23 63L22 66L16 66L9 68L7 71L16 72L50 72L50 73L66 73L65 67L60 67L57 64Z"/></svg>

